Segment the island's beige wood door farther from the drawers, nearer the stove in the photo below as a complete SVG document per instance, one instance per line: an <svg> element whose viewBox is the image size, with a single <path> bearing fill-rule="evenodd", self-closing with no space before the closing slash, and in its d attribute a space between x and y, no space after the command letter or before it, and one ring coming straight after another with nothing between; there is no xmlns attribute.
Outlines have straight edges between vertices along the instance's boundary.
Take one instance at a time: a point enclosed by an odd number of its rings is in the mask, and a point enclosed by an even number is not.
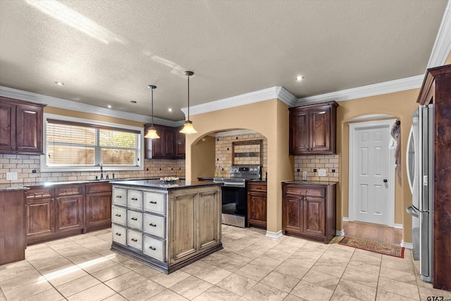
<svg viewBox="0 0 451 301"><path fill-rule="evenodd" d="M218 201L220 195L217 190L199 194L199 248L202 250L220 241L219 227L221 221L218 211L221 211Z"/></svg>

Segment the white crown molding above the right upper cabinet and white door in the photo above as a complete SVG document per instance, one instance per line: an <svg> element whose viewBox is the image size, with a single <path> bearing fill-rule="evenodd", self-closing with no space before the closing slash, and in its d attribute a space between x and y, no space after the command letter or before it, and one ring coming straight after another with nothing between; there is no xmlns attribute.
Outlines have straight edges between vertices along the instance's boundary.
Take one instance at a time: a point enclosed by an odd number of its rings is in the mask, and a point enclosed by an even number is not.
<svg viewBox="0 0 451 301"><path fill-rule="evenodd" d="M347 90L319 94L311 97L299 98L297 99L296 106L315 104L319 102L330 102L332 100L335 100L335 102L343 102L350 99L417 89L421 87L423 78L424 75L416 75L410 78L401 78L399 80L390 80L388 82L379 82L373 85L366 85Z"/></svg>

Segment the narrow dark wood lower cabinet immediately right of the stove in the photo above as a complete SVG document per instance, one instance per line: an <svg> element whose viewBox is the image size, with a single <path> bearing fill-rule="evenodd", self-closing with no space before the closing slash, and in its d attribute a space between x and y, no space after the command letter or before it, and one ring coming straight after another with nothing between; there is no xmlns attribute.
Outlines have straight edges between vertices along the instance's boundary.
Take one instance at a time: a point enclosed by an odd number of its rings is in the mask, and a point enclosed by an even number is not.
<svg viewBox="0 0 451 301"><path fill-rule="evenodd" d="M266 182L247 184L247 223L251 226L266 228Z"/></svg>

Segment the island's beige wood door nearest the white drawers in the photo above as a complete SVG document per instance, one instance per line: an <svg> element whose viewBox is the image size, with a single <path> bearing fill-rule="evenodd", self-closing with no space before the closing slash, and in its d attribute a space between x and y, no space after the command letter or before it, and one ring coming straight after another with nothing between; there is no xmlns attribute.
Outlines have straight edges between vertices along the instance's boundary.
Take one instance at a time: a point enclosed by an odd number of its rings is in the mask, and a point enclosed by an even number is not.
<svg viewBox="0 0 451 301"><path fill-rule="evenodd" d="M197 249L197 193L184 192L171 196L171 263L193 254Z"/></svg>

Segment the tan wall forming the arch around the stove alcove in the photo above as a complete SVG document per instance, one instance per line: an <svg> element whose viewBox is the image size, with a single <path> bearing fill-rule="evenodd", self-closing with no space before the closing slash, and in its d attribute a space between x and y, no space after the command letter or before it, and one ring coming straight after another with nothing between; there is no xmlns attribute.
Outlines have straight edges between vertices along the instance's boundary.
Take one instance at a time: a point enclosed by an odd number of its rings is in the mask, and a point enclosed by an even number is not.
<svg viewBox="0 0 451 301"><path fill-rule="evenodd" d="M252 112L252 113L249 113ZM268 140L268 232L282 229L280 182L294 178L294 157L288 156L288 106L278 99L191 116L197 134L187 135L186 177L199 176L204 161L197 142L211 133L237 128L254 130ZM214 169L213 169L214 171Z"/></svg>

